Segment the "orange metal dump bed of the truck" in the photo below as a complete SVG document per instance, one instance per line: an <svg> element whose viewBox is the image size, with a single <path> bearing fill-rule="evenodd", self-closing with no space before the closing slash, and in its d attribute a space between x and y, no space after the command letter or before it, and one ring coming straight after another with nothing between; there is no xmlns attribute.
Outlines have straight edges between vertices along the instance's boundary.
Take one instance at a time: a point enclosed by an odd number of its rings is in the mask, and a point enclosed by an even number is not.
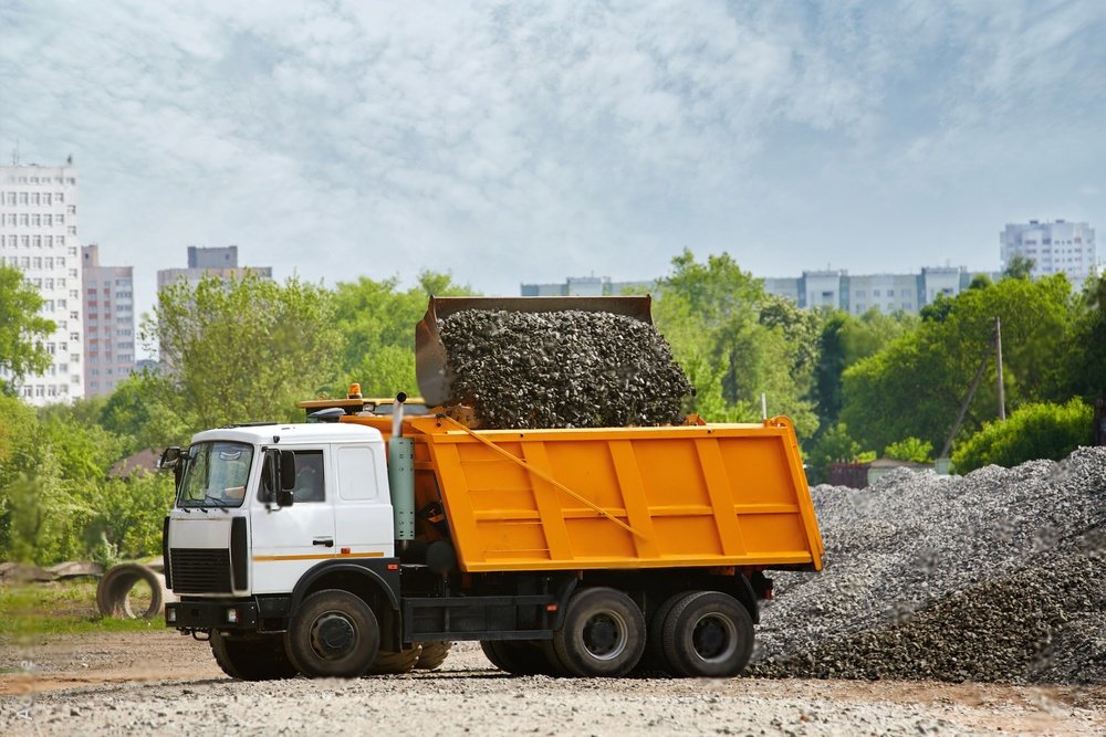
<svg viewBox="0 0 1106 737"><path fill-rule="evenodd" d="M791 423L468 430L404 423L418 506L440 496L461 570L821 569Z"/></svg>

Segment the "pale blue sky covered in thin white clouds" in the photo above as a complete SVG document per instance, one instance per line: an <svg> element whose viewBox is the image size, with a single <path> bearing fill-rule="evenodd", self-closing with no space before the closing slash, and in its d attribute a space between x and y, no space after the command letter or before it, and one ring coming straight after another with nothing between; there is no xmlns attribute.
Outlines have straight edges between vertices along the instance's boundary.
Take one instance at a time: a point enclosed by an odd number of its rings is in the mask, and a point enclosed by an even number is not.
<svg viewBox="0 0 1106 737"><path fill-rule="evenodd" d="M82 242L487 294L664 275L995 270L1106 231L1106 3L0 0L0 151ZM1104 240L1102 236L1099 240Z"/></svg>

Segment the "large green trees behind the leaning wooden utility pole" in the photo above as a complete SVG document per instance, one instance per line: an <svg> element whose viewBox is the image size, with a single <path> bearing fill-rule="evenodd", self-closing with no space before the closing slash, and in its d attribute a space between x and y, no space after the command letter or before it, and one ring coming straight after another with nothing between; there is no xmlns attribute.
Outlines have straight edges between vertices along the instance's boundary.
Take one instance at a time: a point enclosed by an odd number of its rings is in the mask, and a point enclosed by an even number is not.
<svg viewBox="0 0 1106 737"><path fill-rule="evenodd" d="M1066 399L1064 348L1072 326L1071 286L1063 276L1003 280L940 298L917 329L846 369L841 419L868 448L918 438L940 448L971 379L1002 320L1006 403ZM927 309L929 309L927 307ZM988 365L958 438L997 414L994 361Z"/></svg>

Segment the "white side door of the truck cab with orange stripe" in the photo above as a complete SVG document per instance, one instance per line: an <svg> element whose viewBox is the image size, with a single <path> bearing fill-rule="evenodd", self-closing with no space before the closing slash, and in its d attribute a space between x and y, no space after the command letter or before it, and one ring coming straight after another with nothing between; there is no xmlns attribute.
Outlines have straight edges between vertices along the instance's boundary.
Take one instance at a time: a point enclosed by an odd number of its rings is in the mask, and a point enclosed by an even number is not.
<svg viewBox="0 0 1106 737"><path fill-rule="evenodd" d="M307 569L337 554L328 466L322 449L296 450L292 506L265 503L260 489L250 508L253 593L286 593Z"/></svg>

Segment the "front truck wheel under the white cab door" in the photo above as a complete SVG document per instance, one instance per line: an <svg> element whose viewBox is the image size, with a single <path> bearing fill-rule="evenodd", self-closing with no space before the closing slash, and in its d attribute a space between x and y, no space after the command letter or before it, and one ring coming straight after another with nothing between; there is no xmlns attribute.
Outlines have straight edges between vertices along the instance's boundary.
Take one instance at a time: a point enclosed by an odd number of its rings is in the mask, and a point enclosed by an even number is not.
<svg viewBox="0 0 1106 737"><path fill-rule="evenodd" d="M303 600L284 642L292 662L309 678L355 678L376 660L380 628L361 598L324 589Z"/></svg>

